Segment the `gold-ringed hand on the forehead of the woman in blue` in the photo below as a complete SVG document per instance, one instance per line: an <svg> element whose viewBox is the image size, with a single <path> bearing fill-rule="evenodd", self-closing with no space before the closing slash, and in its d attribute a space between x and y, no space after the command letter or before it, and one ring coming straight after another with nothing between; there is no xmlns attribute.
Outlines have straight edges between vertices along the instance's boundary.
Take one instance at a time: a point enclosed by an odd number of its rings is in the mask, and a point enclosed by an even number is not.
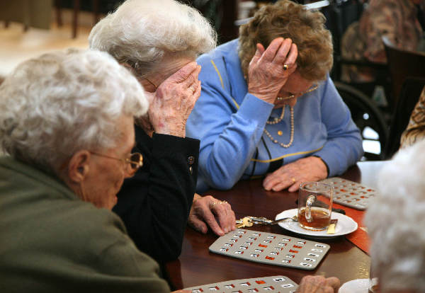
<svg viewBox="0 0 425 293"><path fill-rule="evenodd" d="M280 88L297 68L297 45L290 39L276 38L264 50L257 44L256 52L249 62L248 92L268 103L275 103ZM283 65L288 65L284 70Z"/></svg>

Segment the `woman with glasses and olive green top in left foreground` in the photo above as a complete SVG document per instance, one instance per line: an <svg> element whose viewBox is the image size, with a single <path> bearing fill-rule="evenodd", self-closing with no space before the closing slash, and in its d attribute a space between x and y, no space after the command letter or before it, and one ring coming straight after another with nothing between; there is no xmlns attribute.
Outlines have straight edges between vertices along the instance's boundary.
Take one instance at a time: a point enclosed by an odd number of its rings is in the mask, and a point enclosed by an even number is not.
<svg viewBox="0 0 425 293"><path fill-rule="evenodd" d="M111 212L142 166L142 87L104 52L20 64L0 86L2 292L169 292Z"/></svg>

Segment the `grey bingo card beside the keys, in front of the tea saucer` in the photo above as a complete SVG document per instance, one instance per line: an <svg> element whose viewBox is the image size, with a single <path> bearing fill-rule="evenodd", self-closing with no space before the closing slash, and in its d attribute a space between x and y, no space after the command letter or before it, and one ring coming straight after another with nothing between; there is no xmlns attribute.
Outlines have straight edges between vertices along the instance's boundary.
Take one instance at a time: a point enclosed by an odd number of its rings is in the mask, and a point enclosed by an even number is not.
<svg viewBox="0 0 425 293"><path fill-rule="evenodd" d="M236 229L212 243L210 251L256 263L314 270L329 248L328 244L305 239Z"/></svg>

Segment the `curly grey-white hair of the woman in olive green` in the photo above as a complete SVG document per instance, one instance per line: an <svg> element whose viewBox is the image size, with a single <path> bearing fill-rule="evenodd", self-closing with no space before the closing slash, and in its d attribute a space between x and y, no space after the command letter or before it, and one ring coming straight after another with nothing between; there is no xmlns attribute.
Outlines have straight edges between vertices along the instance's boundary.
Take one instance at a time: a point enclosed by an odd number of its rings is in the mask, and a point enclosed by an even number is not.
<svg viewBox="0 0 425 293"><path fill-rule="evenodd" d="M67 50L30 59L0 86L0 144L47 171L80 149L114 147L123 115L148 102L132 74L105 52Z"/></svg>

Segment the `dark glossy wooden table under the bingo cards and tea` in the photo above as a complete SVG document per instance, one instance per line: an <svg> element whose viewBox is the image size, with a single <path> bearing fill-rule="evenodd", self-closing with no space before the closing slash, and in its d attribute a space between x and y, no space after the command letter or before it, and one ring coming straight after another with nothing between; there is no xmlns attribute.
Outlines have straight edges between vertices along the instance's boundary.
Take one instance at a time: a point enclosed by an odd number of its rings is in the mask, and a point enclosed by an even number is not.
<svg viewBox="0 0 425 293"><path fill-rule="evenodd" d="M380 166L382 166L381 162L361 162L349 168L341 177L363 184L368 181L369 186L375 187L375 184L371 185L370 182L374 183L376 171ZM367 174L368 177L366 178L364 174ZM368 178L372 179L367 180ZM261 182L261 179L241 181L232 190L211 190L210 194L217 199L227 200L232 205L237 219L248 215L274 219L279 212L297 207L295 205L297 193L288 193L287 190L266 191L262 188ZM302 238L302 236L285 231L278 225L254 225L248 229ZM317 269L312 271L263 265L210 253L208 247L216 239L217 236L211 232L203 235L191 228L186 229L179 259L167 263L165 266L165 277L168 278L171 289L271 275L285 275L297 283L305 275L335 276L339 277L343 284L349 280L368 278L369 275L369 256L346 240L344 236L320 240L320 242L329 243L331 249Z"/></svg>

